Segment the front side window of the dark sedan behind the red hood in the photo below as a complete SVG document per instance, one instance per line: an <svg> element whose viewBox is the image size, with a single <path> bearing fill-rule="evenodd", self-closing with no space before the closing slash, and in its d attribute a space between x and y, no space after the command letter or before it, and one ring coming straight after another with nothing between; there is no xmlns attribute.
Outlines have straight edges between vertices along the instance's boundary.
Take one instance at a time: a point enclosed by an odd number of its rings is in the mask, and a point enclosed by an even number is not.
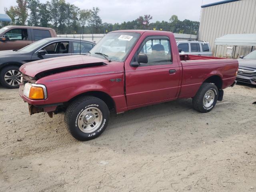
<svg viewBox="0 0 256 192"><path fill-rule="evenodd" d="M55 42L42 50L46 51L46 54L67 54L69 52L69 42Z"/></svg>

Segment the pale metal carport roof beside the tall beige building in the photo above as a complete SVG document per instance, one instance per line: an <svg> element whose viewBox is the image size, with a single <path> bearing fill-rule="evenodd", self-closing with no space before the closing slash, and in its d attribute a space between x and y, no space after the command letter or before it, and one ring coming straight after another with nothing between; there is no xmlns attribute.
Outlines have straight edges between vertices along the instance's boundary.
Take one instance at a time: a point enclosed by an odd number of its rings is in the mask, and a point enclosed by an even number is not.
<svg viewBox="0 0 256 192"><path fill-rule="evenodd" d="M227 34L216 38L215 45L256 46L256 34Z"/></svg>

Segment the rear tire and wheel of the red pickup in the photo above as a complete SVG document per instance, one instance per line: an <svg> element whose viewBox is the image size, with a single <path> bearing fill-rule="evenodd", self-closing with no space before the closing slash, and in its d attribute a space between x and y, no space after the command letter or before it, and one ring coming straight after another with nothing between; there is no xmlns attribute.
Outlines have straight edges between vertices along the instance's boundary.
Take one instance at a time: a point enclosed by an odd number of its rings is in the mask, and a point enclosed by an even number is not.
<svg viewBox="0 0 256 192"><path fill-rule="evenodd" d="M218 88L212 83L203 83L192 102L195 110L207 113L214 108L217 100Z"/></svg>

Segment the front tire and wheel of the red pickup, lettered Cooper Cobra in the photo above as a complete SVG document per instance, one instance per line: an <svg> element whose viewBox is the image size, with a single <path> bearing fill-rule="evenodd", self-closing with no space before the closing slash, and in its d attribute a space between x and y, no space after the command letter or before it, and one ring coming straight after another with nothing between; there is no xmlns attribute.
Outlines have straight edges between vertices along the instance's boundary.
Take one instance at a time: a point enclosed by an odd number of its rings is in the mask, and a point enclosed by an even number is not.
<svg viewBox="0 0 256 192"><path fill-rule="evenodd" d="M94 139L106 129L109 120L108 106L94 96L85 96L72 102L64 116L66 128L80 141Z"/></svg>

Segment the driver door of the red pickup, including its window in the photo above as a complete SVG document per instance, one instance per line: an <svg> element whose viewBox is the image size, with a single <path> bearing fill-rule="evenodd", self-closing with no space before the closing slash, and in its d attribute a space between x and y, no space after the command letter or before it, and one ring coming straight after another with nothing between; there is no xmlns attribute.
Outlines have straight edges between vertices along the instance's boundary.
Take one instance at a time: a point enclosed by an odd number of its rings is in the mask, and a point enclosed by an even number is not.
<svg viewBox="0 0 256 192"><path fill-rule="evenodd" d="M138 67L126 64L128 109L176 98L181 71L176 58L172 58L169 38L147 37L132 62L137 62L138 54L146 55L148 62Z"/></svg>

